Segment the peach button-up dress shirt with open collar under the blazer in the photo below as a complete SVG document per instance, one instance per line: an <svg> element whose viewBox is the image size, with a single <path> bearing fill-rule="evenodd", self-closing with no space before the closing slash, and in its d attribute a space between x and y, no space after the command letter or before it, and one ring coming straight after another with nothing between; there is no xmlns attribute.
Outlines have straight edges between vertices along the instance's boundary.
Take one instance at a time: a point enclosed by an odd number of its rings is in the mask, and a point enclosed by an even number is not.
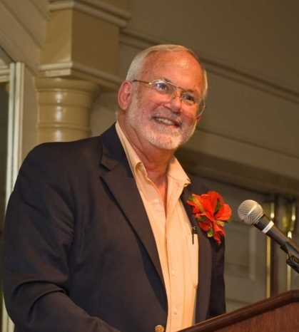
<svg viewBox="0 0 299 332"><path fill-rule="evenodd" d="M168 299L166 332L175 332L195 323L196 289L198 285L198 238L192 235L191 223L181 202L181 193L190 180L176 157L168 162L167 206L156 185L133 150L126 135L116 123L140 192L153 236L156 240Z"/></svg>

